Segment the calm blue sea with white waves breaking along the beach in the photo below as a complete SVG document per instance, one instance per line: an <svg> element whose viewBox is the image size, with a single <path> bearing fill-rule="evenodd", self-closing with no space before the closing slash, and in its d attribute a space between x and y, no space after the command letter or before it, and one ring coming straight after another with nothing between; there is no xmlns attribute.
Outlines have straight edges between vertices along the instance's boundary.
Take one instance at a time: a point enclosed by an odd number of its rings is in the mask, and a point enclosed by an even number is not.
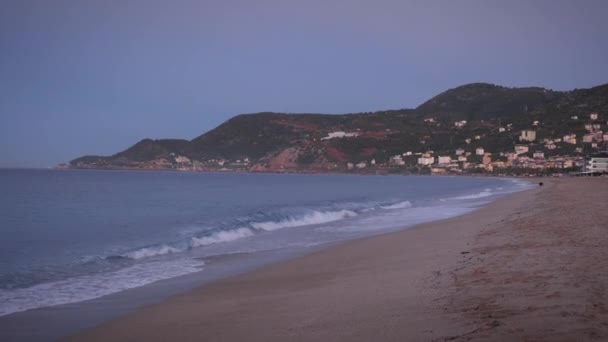
<svg viewBox="0 0 608 342"><path fill-rule="evenodd" d="M0 316L205 274L210 262L238 268L269 252L407 229L530 186L491 177L0 170ZM222 258L231 255L240 258Z"/></svg>

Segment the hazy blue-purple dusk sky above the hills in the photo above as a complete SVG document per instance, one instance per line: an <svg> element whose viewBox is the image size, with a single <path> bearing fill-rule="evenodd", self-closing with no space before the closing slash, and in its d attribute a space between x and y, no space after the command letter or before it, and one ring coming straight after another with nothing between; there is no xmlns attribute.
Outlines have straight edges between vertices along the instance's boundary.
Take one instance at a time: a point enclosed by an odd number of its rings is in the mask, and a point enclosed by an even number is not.
<svg viewBox="0 0 608 342"><path fill-rule="evenodd" d="M0 0L0 167L193 139L241 113L592 87L607 17L605 0Z"/></svg>

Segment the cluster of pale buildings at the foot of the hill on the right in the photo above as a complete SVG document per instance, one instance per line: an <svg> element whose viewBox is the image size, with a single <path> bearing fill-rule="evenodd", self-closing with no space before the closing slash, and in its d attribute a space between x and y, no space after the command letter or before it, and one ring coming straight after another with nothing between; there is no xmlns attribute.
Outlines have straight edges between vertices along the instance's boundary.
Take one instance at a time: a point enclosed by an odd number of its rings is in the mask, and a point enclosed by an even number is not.
<svg viewBox="0 0 608 342"><path fill-rule="evenodd" d="M434 119L427 119L434 122ZM578 116L571 120L579 121ZM537 139L534 128L520 131L519 144L511 151L490 151L483 147L467 148L473 140L482 140L484 136L476 135L465 139L465 146L457 148L452 154L437 154L428 150L424 152L406 151L394 155L386 164L377 164L375 160L369 163L349 163L348 169L364 169L368 165L384 167L417 165L428 168L432 174L458 173L498 173L498 174L603 174L608 173L608 121L599 121L598 113L589 114L589 121L584 124L587 131L580 137L571 133L563 136ZM454 126L462 128L466 121L456 121ZM538 126L534 121L531 126ZM505 134L512 130L511 125L499 127L496 134ZM578 140L577 140L578 139ZM560 154L564 146L574 147L574 153ZM569 149L572 151L572 148Z"/></svg>

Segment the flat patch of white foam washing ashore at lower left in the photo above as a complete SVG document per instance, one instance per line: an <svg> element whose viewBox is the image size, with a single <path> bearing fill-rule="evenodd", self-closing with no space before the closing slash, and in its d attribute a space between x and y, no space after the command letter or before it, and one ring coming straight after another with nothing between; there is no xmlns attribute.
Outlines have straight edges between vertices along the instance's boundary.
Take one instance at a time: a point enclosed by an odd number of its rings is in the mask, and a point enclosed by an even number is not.
<svg viewBox="0 0 608 342"><path fill-rule="evenodd" d="M201 270L195 259L154 261L109 273L74 277L26 288L0 289L0 316L34 308L80 302Z"/></svg>

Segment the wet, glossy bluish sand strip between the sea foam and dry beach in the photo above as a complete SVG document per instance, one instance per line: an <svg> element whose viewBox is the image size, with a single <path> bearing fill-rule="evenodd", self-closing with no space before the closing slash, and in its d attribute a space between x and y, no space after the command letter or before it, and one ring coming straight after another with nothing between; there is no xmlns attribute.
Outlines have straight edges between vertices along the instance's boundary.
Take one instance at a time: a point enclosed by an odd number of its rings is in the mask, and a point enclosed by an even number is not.
<svg viewBox="0 0 608 342"><path fill-rule="evenodd" d="M502 195L510 196L511 194ZM502 198L499 197L498 199ZM484 205L471 207L470 210L476 211ZM458 214L462 215L462 214ZM465 214L466 215L466 214ZM437 221L437 218L435 218ZM443 220L443 219L441 219ZM413 229L417 223L406 225L403 223L397 230L403 231ZM374 234L371 237L393 234L395 230ZM129 314L133 311L166 300L195 288L205 286L211 282L221 281L222 279L255 272L260 268L267 267L275 263L299 258L319 250L333 249L337 246L350 242L367 239L367 237L357 237L343 241L328 242L316 247L308 247L298 250L276 250L269 252L258 252L256 257L251 260L249 254L219 256L206 260L203 272L194 272L176 278L170 278L147 284L142 287L123 290L103 297L61 304L52 307L35 308L27 311L12 313L0 317L0 339L18 339L23 341L44 341L60 338L70 334L82 332L99 324L103 324L117 317ZM249 258L249 259L248 259ZM220 260L216 264L216 259ZM234 259L234 260L232 260ZM244 259L244 262L242 262ZM227 267L231 270L223 269L223 262L227 261L232 266ZM236 267L234 267L236 265Z"/></svg>

